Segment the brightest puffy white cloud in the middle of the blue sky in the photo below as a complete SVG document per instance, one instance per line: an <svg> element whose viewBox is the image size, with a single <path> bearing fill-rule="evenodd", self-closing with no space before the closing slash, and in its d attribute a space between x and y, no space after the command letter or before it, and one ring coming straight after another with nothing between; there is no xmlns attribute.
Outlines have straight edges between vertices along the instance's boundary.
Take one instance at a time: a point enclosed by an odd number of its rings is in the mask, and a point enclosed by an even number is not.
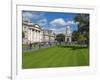
<svg viewBox="0 0 100 80"><path fill-rule="evenodd" d="M54 19L53 21L51 21L50 24L52 26L65 26L66 22L62 18L57 18L57 19Z"/></svg>

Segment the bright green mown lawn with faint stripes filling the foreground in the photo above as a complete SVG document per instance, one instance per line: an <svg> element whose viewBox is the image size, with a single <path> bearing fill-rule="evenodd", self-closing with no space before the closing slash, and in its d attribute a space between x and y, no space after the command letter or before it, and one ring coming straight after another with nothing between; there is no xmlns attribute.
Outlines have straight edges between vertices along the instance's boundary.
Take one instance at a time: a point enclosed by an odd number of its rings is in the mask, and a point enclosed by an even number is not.
<svg viewBox="0 0 100 80"><path fill-rule="evenodd" d="M22 68L88 66L89 50L80 46L55 46L23 52Z"/></svg>

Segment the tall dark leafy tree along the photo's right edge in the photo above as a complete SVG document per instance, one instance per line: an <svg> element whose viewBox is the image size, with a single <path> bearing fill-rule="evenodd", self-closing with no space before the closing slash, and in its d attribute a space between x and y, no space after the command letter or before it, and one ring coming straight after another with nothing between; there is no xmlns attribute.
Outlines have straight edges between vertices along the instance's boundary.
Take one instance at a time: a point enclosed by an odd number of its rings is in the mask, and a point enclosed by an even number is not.
<svg viewBox="0 0 100 80"><path fill-rule="evenodd" d="M74 18L75 22L79 22L78 24L78 37L84 35L84 39L86 44L89 44L89 14L78 14ZM80 38L78 38L80 39ZM80 40L78 40L80 41Z"/></svg>

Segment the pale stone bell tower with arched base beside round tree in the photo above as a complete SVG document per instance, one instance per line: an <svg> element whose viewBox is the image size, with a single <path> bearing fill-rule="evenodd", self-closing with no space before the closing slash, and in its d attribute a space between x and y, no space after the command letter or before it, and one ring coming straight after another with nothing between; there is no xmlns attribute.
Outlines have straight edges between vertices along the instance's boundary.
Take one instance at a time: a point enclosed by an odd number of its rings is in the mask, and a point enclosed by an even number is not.
<svg viewBox="0 0 100 80"><path fill-rule="evenodd" d="M72 42L72 31L71 31L70 26L66 27L65 42L66 43L71 43Z"/></svg>

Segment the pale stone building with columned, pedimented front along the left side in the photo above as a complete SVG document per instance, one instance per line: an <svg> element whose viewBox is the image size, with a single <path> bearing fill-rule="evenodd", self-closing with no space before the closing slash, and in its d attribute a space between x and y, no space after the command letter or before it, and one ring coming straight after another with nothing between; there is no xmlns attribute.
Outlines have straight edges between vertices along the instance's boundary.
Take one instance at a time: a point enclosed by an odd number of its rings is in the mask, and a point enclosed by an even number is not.
<svg viewBox="0 0 100 80"><path fill-rule="evenodd" d="M52 30L44 30L32 22L23 21L22 31L25 35L22 39L23 44L55 41L55 34Z"/></svg>

